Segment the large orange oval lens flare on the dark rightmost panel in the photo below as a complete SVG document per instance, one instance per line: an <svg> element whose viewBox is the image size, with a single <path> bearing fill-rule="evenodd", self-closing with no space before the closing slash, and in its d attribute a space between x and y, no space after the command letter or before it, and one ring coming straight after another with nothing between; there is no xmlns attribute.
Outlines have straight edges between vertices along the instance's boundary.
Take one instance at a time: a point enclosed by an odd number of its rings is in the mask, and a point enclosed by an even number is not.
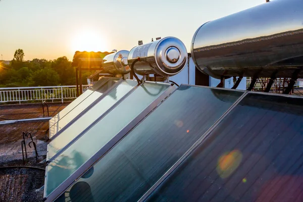
<svg viewBox="0 0 303 202"><path fill-rule="evenodd" d="M232 150L223 154L218 161L217 172L221 178L229 177L240 165L242 154L239 150Z"/></svg>

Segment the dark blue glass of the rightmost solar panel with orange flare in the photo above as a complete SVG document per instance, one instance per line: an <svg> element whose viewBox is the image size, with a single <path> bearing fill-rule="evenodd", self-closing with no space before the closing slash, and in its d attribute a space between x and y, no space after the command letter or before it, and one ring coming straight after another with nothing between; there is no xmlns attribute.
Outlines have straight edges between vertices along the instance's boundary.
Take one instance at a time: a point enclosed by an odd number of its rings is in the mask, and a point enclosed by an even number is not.
<svg viewBox="0 0 303 202"><path fill-rule="evenodd" d="M302 101L249 93L147 200L302 201Z"/></svg>

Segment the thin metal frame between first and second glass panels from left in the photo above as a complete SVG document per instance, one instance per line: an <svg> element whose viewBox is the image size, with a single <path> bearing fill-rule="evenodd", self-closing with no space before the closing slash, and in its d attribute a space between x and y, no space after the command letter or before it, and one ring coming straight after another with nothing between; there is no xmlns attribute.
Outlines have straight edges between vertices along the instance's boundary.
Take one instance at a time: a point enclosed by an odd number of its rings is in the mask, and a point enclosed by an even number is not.
<svg viewBox="0 0 303 202"><path fill-rule="evenodd" d="M53 139L55 139L56 137L58 137L62 132L64 132L68 127L70 127L73 123L75 123L75 121L77 121L80 117L83 116L83 114L85 114L86 112L88 112L91 108L93 108L96 104L98 104L100 102L100 100L102 100L105 96L107 96L110 92L112 92L112 90L117 87L119 84L121 84L124 80L120 79L119 81L117 81L114 85L112 85L108 90L106 90L101 96L99 96L97 99L94 100L93 103L91 103L89 106L87 106L85 108L85 110L83 110L80 114L78 114L75 118L73 118L68 124L66 124L61 130L59 130L56 134L54 134L51 138L49 138L49 141L52 141ZM81 102L82 103L82 102ZM63 118L63 117L62 117ZM61 120L61 119L60 119ZM60 121L59 120L59 121ZM54 125L56 125L59 121L57 121ZM53 126L54 126L53 125ZM52 126L52 127L53 127ZM49 127L51 128L51 127ZM49 130L50 132L51 130ZM50 134L48 133L48 136Z"/></svg>

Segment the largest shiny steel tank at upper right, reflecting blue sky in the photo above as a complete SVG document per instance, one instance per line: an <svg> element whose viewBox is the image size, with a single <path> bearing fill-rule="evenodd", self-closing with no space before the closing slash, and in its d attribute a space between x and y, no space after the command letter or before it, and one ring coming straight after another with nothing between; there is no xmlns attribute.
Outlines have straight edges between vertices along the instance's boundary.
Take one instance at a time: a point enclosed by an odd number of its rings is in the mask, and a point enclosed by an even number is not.
<svg viewBox="0 0 303 202"><path fill-rule="evenodd" d="M192 38L191 56L215 78L291 77L303 66L303 1L273 0L205 23Z"/></svg>

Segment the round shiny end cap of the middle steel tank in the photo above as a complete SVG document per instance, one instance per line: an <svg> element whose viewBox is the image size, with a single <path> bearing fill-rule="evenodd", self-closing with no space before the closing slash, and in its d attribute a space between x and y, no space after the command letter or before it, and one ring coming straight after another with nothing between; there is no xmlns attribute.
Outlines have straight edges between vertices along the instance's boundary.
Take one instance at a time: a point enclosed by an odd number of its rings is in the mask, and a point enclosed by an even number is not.
<svg viewBox="0 0 303 202"><path fill-rule="evenodd" d="M186 65L186 47L178 38L165 37L156 46L155 58L162 74L175 75Z"/></svg>

